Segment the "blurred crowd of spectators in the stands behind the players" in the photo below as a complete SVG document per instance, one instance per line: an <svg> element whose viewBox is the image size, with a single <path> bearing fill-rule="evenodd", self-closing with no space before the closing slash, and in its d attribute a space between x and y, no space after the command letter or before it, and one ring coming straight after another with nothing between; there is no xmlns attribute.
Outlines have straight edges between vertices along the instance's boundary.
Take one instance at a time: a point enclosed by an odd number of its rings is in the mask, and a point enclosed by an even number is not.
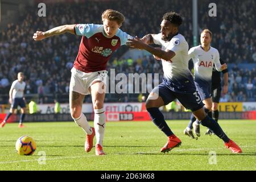
<svg viewBox="0 0 256 182"><path fill-rule="evenodd" d="M199 34L204 28L213 32L212 46L220 52L229 68L229 93L222 94L221 101L256 101L255 67L238 68L241 63L256 63L255 1L216 1L217 17L209 17L208 1L199 3ZM147 6L145 6L147 5ZM160 32L164 13L170 10L180 13L184 22L180 33L193 47L192 2L191 1L112 1L86 3L56 3L47 6L46 18L37 15L38 7L28 7L19 16L18 22L9 23L0 32L0 104L7 104L12 82L18 72L24 72L27 84L25 93L36 94L39 103L50 103L55 98L68 102L69 81L73 61L77 56L81 36L65 34L35 42L32 35L36 30L47 31L63 24L101 24L105 9L121 11L126 22L121 29L128 34L143 35ZM161 61L152 56L137 60L120 59L129 48L122 46L114 53L108 68L115 73L159 73L162 81ZM6 97L4 97L6 96ZM139 94L107 94L106 102L136 102ZM90 96L86 96L86 101ZM141 101L139 99L139 101Z"/></svg>

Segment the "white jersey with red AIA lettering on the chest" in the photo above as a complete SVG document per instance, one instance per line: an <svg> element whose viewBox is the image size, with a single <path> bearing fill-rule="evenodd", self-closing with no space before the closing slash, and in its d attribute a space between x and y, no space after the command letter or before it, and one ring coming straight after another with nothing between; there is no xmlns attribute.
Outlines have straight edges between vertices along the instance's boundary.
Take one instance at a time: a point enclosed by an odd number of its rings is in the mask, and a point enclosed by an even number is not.
<svg viewBox="0 0 256 182"><path fill-rule="evenodd" d="M217 71L221 71L220 54L216 48L210 47L209 51L204 51L200 45L189 49L188 55L194 63L195 80L211 81L213 64Z"/></svg>

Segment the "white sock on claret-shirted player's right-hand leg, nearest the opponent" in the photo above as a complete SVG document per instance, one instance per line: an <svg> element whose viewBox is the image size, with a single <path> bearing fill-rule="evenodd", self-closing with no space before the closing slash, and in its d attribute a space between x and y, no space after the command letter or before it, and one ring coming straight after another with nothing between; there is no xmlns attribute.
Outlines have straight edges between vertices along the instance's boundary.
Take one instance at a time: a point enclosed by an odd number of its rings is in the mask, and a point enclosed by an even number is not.
<svg viewBox="0 0 256 182"><path fill-rule="evenodd" d="M100 144L102 146L104 133L106 127L106 113L105 109L94 109L94 129L96 134L96 144Z"/></svg>

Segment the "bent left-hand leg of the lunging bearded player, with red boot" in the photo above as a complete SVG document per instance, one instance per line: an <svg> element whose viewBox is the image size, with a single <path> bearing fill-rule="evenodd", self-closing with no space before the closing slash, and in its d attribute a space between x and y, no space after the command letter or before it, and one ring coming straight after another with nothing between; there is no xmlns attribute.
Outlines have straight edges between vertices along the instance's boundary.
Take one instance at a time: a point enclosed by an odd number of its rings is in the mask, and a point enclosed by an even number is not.
<svg viewBox="0 0 256 182"><path fill-rule="evenodd" d="M168 137L167 143L160 150L161 152L169 152L172 148L179 147L181 144L180 139L172 133L170 127L164 120L163 114L159 110L159 107L167 105L174 100L175 97L172 95L171 90L166 88L164 84L160 84L152 90L146 101L146 109L152 121Z"/></svg>

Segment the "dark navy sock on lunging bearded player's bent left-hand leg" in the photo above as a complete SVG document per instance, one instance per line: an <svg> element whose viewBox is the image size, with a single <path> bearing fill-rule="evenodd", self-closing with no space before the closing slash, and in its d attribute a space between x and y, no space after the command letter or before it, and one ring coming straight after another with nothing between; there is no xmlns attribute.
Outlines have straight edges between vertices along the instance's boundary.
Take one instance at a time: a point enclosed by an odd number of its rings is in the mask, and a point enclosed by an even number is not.
<svg viewBox="0 0 256 182"><path fill-rule="evenodd" d="M166 121L164 120L164 116L159 110L158 107L150 107L147 109L148 113L150 114L150 117L152 121L155 123L155 125L163 131L164 134L166 134L167 137L170 137L174 133L172 133L170 127L167 125Z"/></svg>

